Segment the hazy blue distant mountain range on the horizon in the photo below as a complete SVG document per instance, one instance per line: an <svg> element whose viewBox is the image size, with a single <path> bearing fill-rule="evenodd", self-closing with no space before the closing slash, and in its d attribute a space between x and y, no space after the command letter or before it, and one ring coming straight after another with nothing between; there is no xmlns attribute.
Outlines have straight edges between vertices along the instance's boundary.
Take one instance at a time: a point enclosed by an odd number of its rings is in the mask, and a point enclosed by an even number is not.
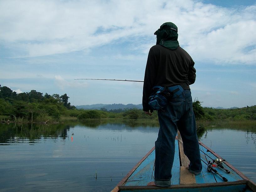
<svg viewBox="0 0 256 192"><path fill-rule="evenodd" d="M77 105L77 109L102 109L105 108L109 110L115 109L142 109L142 104L93 104L93 105ZM204 107L204 108L212 108L212 109L237 109L238 107L231 107L231 108L223 108L223 107Z"/></svg>

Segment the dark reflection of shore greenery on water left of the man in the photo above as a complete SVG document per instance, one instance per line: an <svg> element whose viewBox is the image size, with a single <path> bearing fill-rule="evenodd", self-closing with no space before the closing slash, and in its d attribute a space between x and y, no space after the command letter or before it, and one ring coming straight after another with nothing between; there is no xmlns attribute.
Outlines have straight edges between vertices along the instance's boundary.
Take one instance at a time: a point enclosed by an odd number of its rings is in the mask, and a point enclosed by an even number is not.
<svg viewBox="0 0 256 192"><path fill-rule="evenodd" d="M131 131L133 130L131 128L136 130L138 127L157 127L158 122L156 120L88 120L86 122L73 120L58 124L3 123L0 124L0 143L38 141L46 138L56 140L58 137L65 140L71 137L68 135L68 131L76 126L89 129L104 127L110 131L119 131L121 128Z"/></svg>

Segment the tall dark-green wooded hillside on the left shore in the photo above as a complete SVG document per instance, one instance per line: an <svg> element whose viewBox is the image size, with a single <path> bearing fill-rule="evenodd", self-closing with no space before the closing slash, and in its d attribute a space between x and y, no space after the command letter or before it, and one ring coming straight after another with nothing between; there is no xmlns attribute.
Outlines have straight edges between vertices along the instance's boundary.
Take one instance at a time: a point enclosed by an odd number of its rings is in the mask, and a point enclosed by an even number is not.
<svg viewBox="0 0 256 192"><path fill-rule="evenodd" d="M60 119L61 115L70 115L75 109L68 102L67 94L49 95L31 90L17 94L10 88L0 85L0 115L27 120Z"/></svg>

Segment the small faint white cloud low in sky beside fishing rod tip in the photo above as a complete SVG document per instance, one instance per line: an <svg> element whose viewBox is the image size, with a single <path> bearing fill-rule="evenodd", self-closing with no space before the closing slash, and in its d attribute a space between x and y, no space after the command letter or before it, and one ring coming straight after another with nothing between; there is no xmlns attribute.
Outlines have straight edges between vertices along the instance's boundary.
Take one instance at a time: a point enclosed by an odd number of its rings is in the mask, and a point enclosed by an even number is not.
<svg viewBox="0 0 256 192"><path fill-rule="evenodd" d="M67 81L65 80L63 77L61 77L60 75L56 75L55 77L55 83L56 85L61 88L61 89L65 89L65 88L84 88L88 86L88 83L86 82L78 82L78 81Z"/></svg>

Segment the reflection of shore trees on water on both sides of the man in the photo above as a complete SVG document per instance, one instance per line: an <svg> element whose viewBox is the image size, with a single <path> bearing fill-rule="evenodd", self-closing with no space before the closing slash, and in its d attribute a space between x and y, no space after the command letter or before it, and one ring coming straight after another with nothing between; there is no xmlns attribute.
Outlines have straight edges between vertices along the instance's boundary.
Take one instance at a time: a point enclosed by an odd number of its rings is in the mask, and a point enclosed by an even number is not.
<svg viewBox="0 0 256 192"><path fill-rule="evenodd" d="M237 122L236 122L237 123ZM208 125L209 124L209 125ZM255 125L233 125L223 122L215 123L216 127L212 127L213 122L208 122L207 125L199 127L197 130L198 138L201 139L205 132L214 129L232 129L246 131L247 134L245 138L248 141L252 141L256 145L256 126ZM154 119L139 119L139 120L128 120L128 119L101 119L101 120L87 120L85 122L79 122L76 120L65 121L65 123L59 124L25 124L17 123L13 124L7 123L0 124L0 143L8 142L20 142L24 140L40 140L42 138L53 138L58 137L65 140L70 129L75 126L85 126L89 129L98 128L99 125L105 127L106 130L134 130L134 129L144 129L144 128L155 128L159 127L159 123ZM132 128L132 129L131 129Z"/></svg>

